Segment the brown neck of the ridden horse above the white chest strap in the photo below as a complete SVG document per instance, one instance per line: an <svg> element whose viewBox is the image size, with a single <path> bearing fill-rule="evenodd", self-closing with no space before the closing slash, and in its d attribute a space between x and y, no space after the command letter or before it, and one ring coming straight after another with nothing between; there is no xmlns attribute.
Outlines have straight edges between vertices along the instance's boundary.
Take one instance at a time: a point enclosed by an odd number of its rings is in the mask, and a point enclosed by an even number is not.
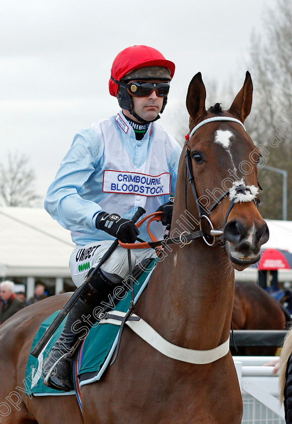
<svg viewBox="0 0 292 424"><path fill-rule="evenodd" d="M158 263L142 313L167 340L211 349L228 337L233 295L234 272L222 248L201 239L174 245Z"/></svg>

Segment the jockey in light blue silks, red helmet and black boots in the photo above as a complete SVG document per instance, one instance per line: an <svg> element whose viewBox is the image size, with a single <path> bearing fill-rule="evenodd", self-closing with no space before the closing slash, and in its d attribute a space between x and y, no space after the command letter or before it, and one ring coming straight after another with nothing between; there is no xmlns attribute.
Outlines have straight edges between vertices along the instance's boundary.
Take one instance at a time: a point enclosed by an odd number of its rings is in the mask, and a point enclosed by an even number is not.
<svg viewBox="0 0 292 424"><path fill-rule="evenodd" d="M135 242L139 230L131 218L138 206L148 215L162 210L162 223L170 223L169 196L175 191L181 148L156 121L165 108L174 70L174 63L155 48L135 45L121 51L109 81L110 94L117 97L121 111L75 136L48 188L45 209L71 230L76 243L69 265L77 287L115 238ZM152 231L159 240L165 233L159 222L153 223ZM148 239L145 224L140 237ZM132 267L150 256L154 256L153 249L131 251ZM69 311L43 367L44 375L49 374L46 385L71 390L72 358L63 355L81 338L84 316L107 301L128 273L127 249L118 246Z"/></svg>

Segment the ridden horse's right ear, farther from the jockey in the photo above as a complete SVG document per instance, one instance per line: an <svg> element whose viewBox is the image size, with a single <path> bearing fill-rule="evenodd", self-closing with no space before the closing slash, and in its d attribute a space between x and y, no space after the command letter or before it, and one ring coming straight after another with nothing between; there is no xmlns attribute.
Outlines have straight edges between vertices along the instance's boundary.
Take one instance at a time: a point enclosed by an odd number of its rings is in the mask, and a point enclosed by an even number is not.
<svg viewBox="0 0 292 424"><path fill-rule="evenodd" d="M228 112L236 113L242 122L250 115L253 101L253 81L249 71L239 93L236 95Z"/></svg>

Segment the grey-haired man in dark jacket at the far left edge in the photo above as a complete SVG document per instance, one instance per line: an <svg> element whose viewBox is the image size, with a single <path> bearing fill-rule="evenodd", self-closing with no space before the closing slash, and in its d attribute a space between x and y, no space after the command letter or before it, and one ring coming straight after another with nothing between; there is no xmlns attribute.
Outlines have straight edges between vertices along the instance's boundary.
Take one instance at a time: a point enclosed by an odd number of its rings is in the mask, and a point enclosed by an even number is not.
<svg viewBox="0 0 292 424"><path fill-rule="evenodd" d="M25 307L25 304L17 299L14 293L15 284L13 281L3 281L0 283L0 324L3 324L12 315Z"/></svg>

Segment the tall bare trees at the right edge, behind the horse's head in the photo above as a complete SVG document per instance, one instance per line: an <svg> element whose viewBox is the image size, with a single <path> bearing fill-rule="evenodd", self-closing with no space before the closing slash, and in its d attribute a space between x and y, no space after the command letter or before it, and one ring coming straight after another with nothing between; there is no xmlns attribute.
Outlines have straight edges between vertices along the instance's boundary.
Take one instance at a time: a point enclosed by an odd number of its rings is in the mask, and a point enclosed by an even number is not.
<svg viewBox="0 0 292 424"><path fill-rule="evenodd" d="M253 121L247 129L258 144L267 165L292 173L292 0L277 0L267 10L264 33L253 34L250 65L255 86ZM282 131L282 132L281 132ZM285 134L286 133L286 134ZM260 170L264 187L261 213L265 218L282 219L282 177ZM292 185L288 178L288 219L292 219Z"/></svg>

